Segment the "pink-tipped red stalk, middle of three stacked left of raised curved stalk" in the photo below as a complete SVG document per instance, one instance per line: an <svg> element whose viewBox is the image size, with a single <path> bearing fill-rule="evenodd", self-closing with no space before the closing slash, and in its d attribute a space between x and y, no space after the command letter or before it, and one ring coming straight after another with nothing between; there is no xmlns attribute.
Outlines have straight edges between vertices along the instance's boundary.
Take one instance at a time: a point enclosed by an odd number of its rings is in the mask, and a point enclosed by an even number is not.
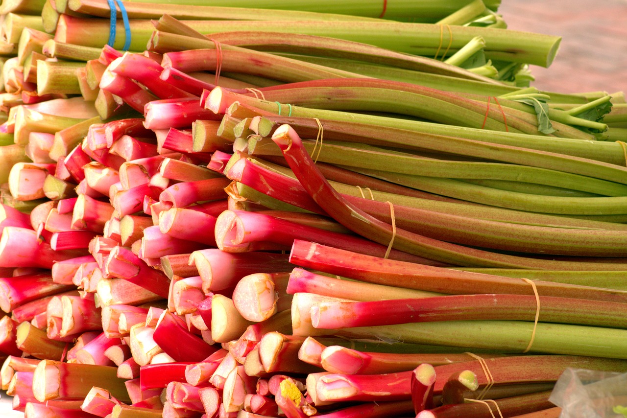
<svg viewBox="0 0 627 418"><path fill-rule="evenodd" d="M227 197L224 187L230 184L226 178L198 180L171 185L161 192L159 201L174 207L186 207L196 202L216 201Z"/></svg>

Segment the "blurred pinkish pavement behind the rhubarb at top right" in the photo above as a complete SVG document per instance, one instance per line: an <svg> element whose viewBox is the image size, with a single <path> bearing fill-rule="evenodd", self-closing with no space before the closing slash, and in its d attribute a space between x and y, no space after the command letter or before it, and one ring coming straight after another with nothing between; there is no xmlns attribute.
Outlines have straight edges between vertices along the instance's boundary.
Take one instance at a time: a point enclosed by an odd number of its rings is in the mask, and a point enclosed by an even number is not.
<svg viewBox="0 0 627 418"><path fill-rule="evenodd" d="M627 0L502 0L509 29L562 36L553 64L532 67L549 91L627 92Z"/></svg>

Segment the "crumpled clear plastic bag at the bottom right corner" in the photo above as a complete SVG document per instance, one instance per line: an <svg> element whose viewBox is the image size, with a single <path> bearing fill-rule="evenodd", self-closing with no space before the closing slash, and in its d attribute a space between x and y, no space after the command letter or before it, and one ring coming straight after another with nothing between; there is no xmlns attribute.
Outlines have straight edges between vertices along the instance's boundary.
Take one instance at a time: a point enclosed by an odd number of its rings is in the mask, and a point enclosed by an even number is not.
<svg viewBox="0 0 627 418"><path fill-rule="evenodd" d="M567 368L549 400L560 418L626 418L627 373Z"/></svg>

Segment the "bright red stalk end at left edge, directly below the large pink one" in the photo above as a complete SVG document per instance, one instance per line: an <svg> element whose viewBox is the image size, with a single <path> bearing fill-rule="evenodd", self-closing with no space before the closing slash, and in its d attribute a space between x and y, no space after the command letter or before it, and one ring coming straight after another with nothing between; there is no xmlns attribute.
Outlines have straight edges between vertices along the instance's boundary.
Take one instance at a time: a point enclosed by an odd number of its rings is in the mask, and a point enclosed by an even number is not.
<svg viewBox="0 0 627 418"><path fill-rule="evenodd" d="M71 285L55 283L50 273L0 278L0 308L9 313L24 303L72 288Z"/></svg>

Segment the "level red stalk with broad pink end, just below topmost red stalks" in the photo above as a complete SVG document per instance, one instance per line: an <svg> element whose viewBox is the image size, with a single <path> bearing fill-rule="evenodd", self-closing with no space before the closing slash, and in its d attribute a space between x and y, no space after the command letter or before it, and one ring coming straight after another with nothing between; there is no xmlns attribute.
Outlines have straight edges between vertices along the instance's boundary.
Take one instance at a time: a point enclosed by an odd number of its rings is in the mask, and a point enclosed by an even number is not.
<svg viewBox="0 0 627 418"><path fill-rule="evenodd" d="M219 120L221 117L203 108L198 97L152 100L142 109L144 126L149 129L188 128L194 120Z"/></svg>

